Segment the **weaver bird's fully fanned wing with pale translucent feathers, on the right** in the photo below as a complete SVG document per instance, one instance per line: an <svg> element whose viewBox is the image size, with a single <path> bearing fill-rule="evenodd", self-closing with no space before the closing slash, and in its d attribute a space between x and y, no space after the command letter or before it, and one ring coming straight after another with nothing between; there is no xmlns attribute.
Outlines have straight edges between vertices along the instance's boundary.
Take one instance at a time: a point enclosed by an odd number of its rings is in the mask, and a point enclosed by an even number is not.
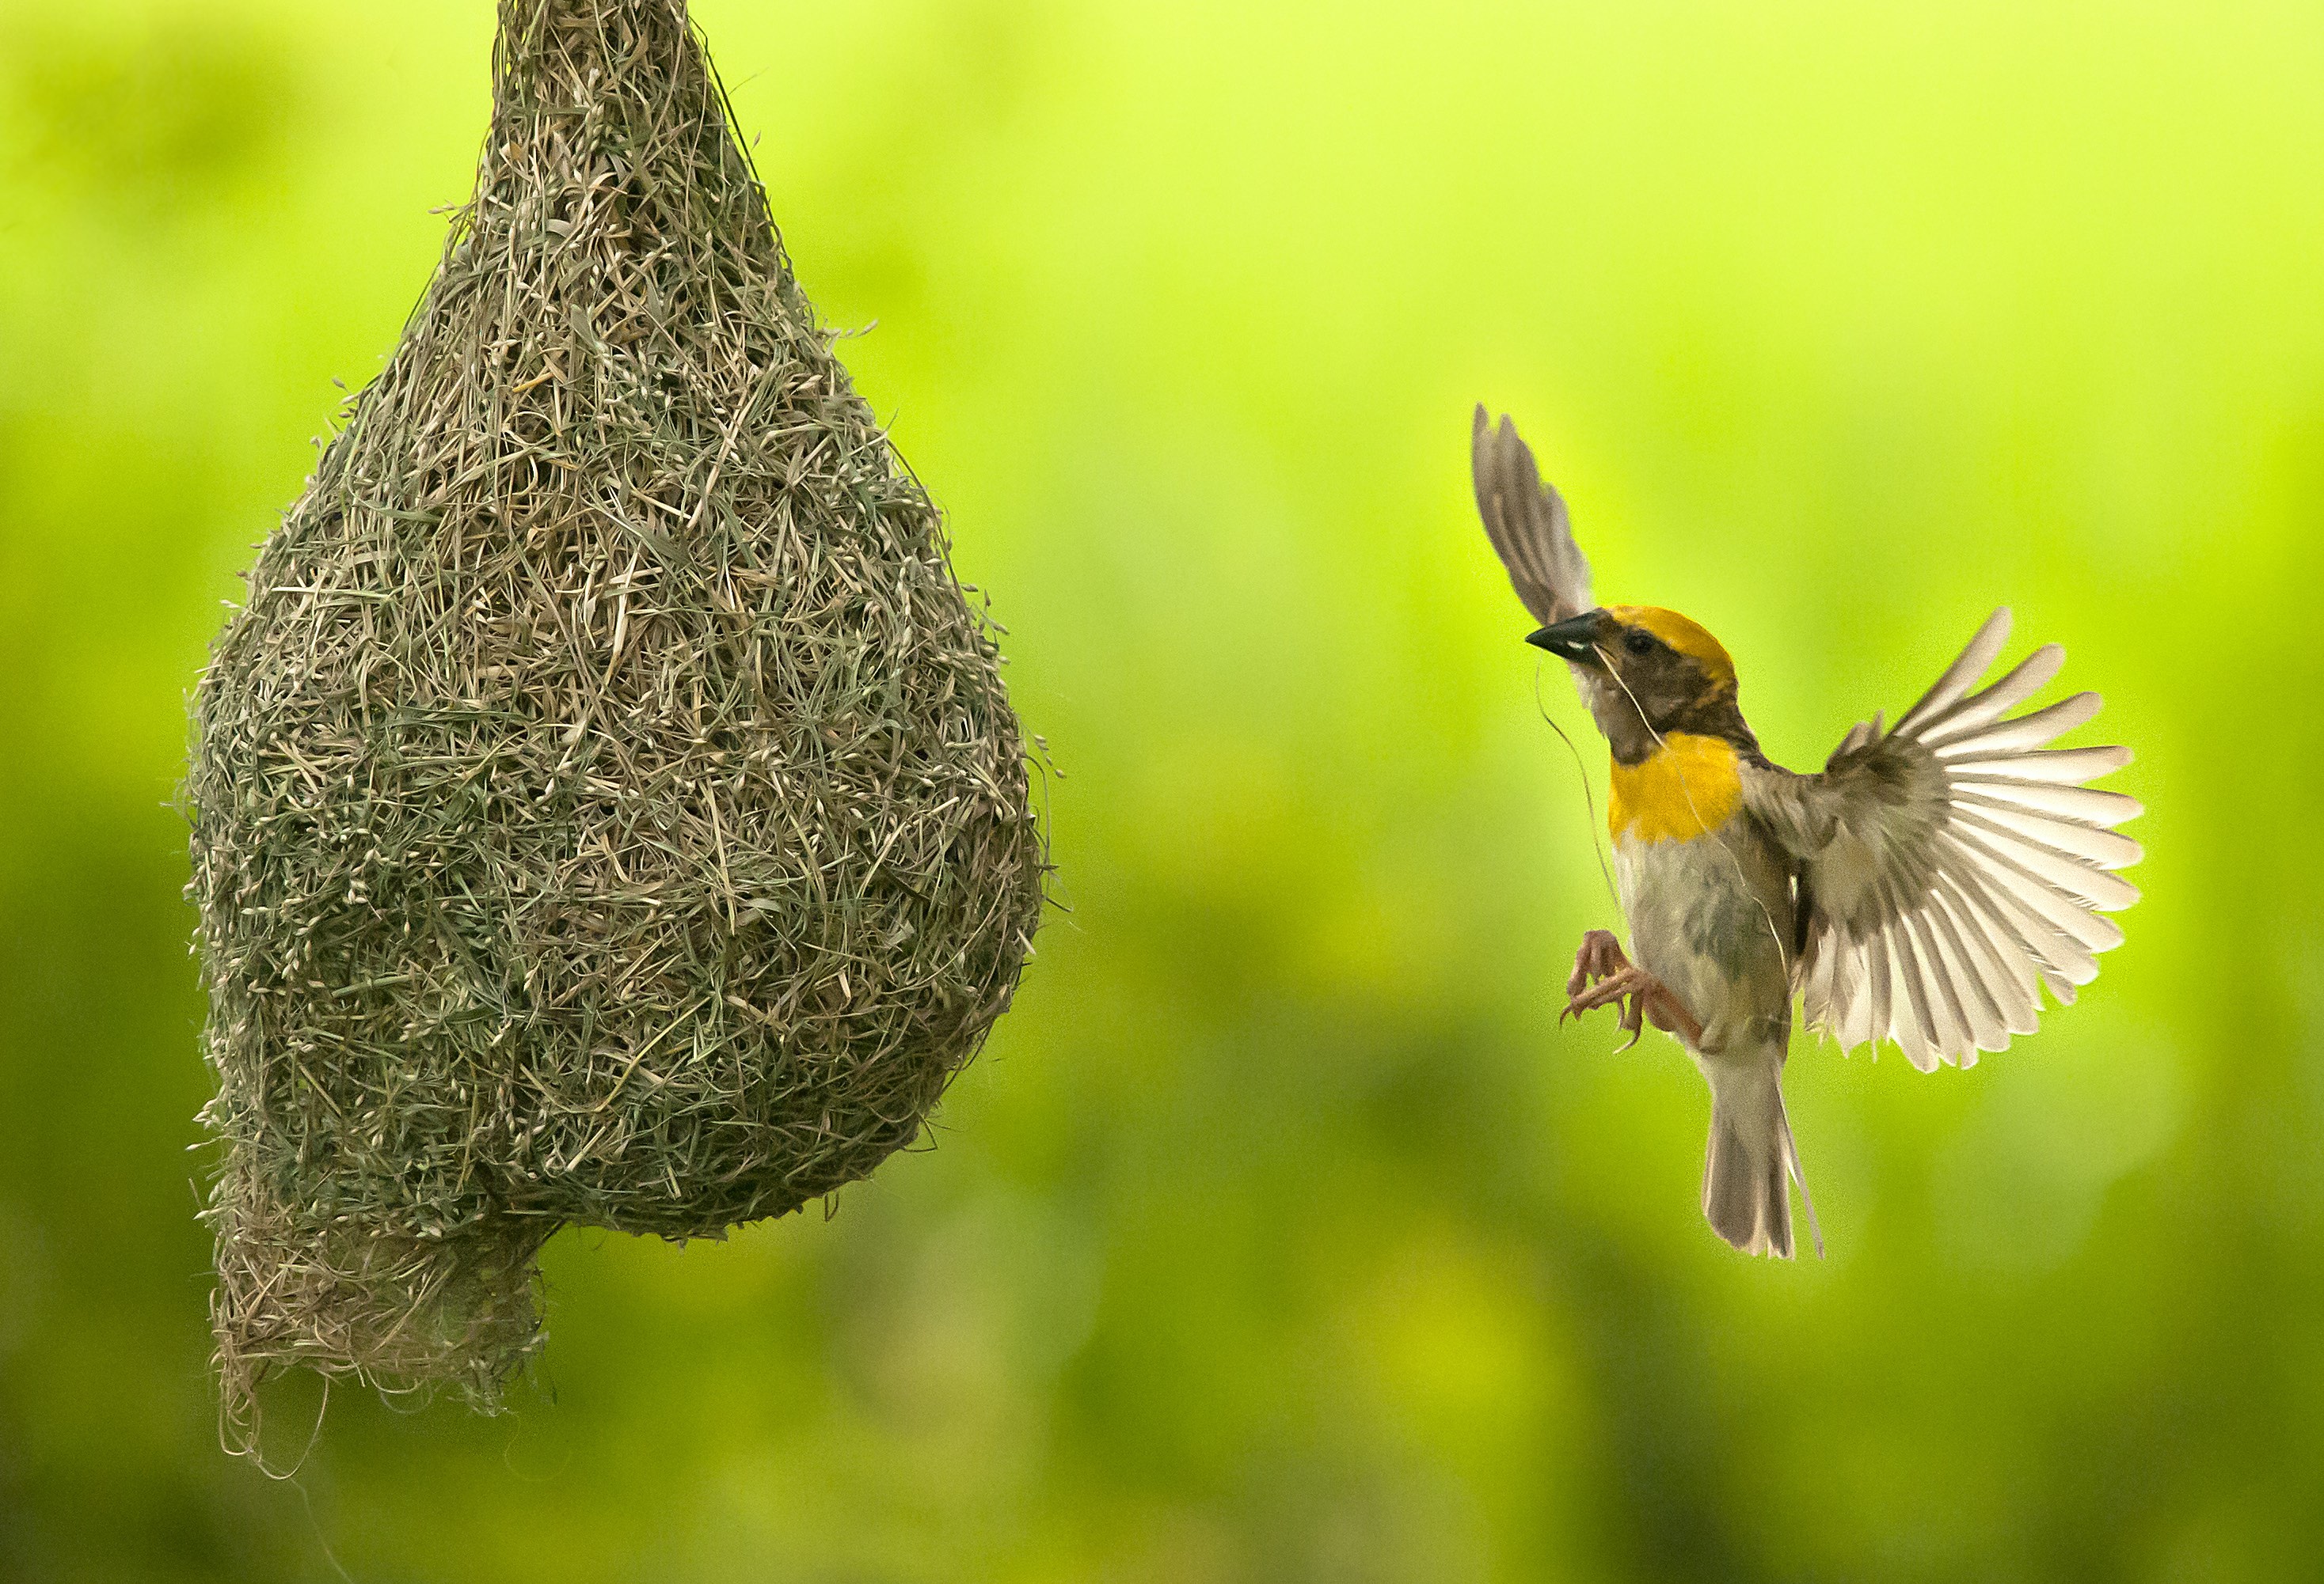
<svg viewBox="0 0 2324 1584"><path fill-rule="evenodd" d="M2113 827L2143 811L2082 783L2131 750L2045 748L2099 713L2094 692L2006 718L2057 676L2057 643L1968 692L2008 632L1994 611L1920 704L1889 729L1878 715L1855 727L1822 776L1745 776L1752 813L1799 864L1808 1027L1843 1050L1894 1041L1922 1071L1968 1066L2033 1031L2043 985L2071 1006L2096 952L2122 943L2101 915L2138 901L2113 871L2140 850Z"/></svg>

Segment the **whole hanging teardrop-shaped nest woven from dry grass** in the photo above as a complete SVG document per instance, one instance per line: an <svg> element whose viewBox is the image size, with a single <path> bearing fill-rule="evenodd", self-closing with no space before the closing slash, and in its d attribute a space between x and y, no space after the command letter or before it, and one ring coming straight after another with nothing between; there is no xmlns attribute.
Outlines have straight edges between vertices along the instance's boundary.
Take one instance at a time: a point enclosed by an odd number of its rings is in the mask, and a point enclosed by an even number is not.
<svg viewBox="0 0 2324 1584"><path fill-rule="evenodd" d="M918 1136L1041 910L944 525L683 0L502 0L476 197L195 694L228 1419L493 1405L565 1224L716 1236Z"/></svg>

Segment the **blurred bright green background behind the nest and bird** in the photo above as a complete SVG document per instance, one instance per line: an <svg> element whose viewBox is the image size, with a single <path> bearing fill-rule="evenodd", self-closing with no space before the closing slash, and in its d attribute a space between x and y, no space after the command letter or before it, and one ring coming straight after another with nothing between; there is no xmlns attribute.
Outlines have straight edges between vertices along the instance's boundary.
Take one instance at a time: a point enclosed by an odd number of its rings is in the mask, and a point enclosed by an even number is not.
<svg viewBox="0 0 2324 1584"><path fill-rule="evenodd" d="M2324 14L695 12L1071 910L837 1219L565 1233L514 1414L221 1456L184 694L467 195L490 5L0 0L0 1579L2317 1575ZM1703 1226L1669 1041L1555 1024L1615 913L1478 399L1778 759L1999 602L2140 753L2082 1006L1801 1043L1824 1261Z"/></svg>

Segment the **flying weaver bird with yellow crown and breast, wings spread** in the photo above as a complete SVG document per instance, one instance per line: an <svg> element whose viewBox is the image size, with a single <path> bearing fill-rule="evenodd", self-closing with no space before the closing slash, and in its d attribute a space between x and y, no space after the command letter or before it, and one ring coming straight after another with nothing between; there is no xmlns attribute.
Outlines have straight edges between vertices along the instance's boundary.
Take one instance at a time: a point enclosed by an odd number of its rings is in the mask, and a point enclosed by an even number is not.
<svg viewBox="0 0 2324 1584"><path fill-rule="evenodd" d="M2008 639L2001 609L1920 704L1855 727L1822 773L1771 764L1720 641L1676 611L1599 606L1566 504L1483 406L1473 467L1485 534L1541 622L1527 643L1566 660L1613 748L1606 813L1636 962L1585 934L1559 1022L1618 1006L1624 1050L1643 1022L1678 1036L1710 1082L1710 1226L1789 1257L1789 1173L1822 1252L1783 1110L1792 999L1841 1050L1892 1041L1922 1071L2031 1034L2043 987L2071 1006L2096 952L2122 943L2101 915L2138 901L2113 873L2138 843L2113 827L2140 806L2082 785L2131 753L2045 748L2099 713L2094 692L2010 718L2057 676L2057 643L1971 692Z"/></svg>

